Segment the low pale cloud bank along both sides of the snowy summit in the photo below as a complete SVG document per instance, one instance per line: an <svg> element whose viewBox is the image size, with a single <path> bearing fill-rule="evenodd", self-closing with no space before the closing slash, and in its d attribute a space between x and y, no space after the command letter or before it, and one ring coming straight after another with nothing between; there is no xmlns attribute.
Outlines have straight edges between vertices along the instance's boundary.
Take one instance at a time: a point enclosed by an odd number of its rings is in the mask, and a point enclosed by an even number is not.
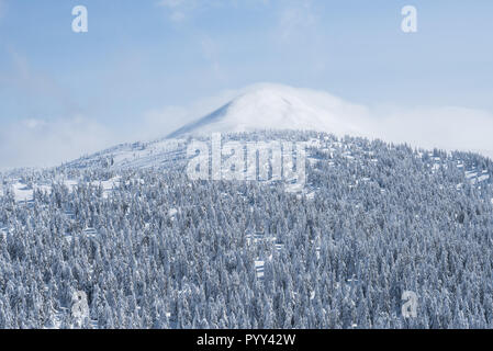
<svg viewBox="0 0 493 351"><path fill-rule="evenodd" d="M109 126L83 115L57 120L30 118L11 123L0 129L0 169L56 166L122 140L133 143L164 137L259 87L266 84L226 90L187 106L149 110L138 117L139 126L124 135L121 132L115 135ZM491 112L460 106L365 106L323 91L284 88L298 94L306 105L318 110L330 106L330 115L339 124L337 128L346 125L354 131L354 135L407 143L426 149L436 147L475 151L493 158ZM326 132L333 131L327 127Z"/></svg>

